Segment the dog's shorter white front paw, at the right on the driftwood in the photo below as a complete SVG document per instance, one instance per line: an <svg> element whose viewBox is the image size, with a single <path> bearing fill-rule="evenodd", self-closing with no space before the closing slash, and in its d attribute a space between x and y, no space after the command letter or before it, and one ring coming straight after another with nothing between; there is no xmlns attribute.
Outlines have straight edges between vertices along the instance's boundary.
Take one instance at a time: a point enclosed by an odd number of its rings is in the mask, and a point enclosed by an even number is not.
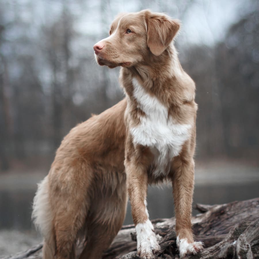
<svg viewBox="0 0 259 259"><path fill-rule="evenodd" d="M187 238L182 238L179 240L179 238L177 237L176 244L178 246L180 258L190 254L197 254L203 249L202 242L189 243L187 241Z"/></svg>

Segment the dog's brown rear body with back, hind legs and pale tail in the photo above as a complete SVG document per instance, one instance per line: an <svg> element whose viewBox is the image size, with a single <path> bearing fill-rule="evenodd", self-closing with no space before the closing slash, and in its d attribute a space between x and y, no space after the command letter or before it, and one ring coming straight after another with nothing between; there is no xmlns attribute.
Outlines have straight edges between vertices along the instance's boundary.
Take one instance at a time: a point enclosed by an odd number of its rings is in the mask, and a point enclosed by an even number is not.
<svg viewBox="0 0 259 259"><path fill-rule="evenodd" d="M77 125L58 148L33 202L44 259L55 252L74 258L77 238L87 241L81 258L86 251L87 258L98 258L121 228L127 201L125 107L123 100Z"/></svg>

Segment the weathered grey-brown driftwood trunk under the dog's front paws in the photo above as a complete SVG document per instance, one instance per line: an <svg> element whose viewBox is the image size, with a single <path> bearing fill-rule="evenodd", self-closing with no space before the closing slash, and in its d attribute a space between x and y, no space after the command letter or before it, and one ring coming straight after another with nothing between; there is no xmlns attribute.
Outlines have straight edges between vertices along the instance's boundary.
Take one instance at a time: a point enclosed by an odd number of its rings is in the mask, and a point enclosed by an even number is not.
<svg viewBox="0 0 259 259"><path fill-rule="evenodd" d="M196 209L201 214L193 218L193 231L195 239L202 241L205 248L201 253L186 258L259 258L259 198L212 206L197 204ZM175 218L157 219L152 223L161 246L158 258L179 258L174 232ZM40 259L40 251L41 245L35 247L34 251L31 249L6 258ZM103 258L139 258L133 225L122 227Z"/></svg>

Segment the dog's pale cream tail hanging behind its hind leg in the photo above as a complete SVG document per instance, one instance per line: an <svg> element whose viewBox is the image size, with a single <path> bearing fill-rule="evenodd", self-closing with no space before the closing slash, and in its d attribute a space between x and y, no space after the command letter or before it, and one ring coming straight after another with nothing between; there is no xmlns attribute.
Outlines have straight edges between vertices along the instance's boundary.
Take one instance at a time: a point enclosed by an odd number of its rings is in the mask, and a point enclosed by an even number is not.
<svg viewBox="0 0 259 259"><path fill-rule="evenodd" d="M43 259L52 259L55 254L53 215L49 199L49 182L46 176L39 184L33 199L32 220L44 237Z"/></svg>

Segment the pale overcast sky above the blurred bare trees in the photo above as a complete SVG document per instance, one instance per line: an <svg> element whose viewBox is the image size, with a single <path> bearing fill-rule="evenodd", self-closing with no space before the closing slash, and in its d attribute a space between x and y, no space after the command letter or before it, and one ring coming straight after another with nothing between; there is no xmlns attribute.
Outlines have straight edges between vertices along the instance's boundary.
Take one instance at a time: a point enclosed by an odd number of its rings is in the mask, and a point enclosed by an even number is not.
<svg viewBox="0 0 259 259"><path fill-rule="evenodd" d="M23 20L30 22L28 29L33 35L42 23L49 24L60 17L62 4L66 2L76 19L75 30L82 35L98 37L108 35L109 25L118 13L151 9L182 20L178 43L213 45L224 39L231 24L251 11L254 1L257 0L109 0L105 1L108 4L104 5L104 15L100 12L102 0L0 0L0 7L7 6L8 11L2 14L6 21L13 20L14 10L18 11ZM13 33L9 37L14 39L19 34L17 31L9 33Z"/></svg>

